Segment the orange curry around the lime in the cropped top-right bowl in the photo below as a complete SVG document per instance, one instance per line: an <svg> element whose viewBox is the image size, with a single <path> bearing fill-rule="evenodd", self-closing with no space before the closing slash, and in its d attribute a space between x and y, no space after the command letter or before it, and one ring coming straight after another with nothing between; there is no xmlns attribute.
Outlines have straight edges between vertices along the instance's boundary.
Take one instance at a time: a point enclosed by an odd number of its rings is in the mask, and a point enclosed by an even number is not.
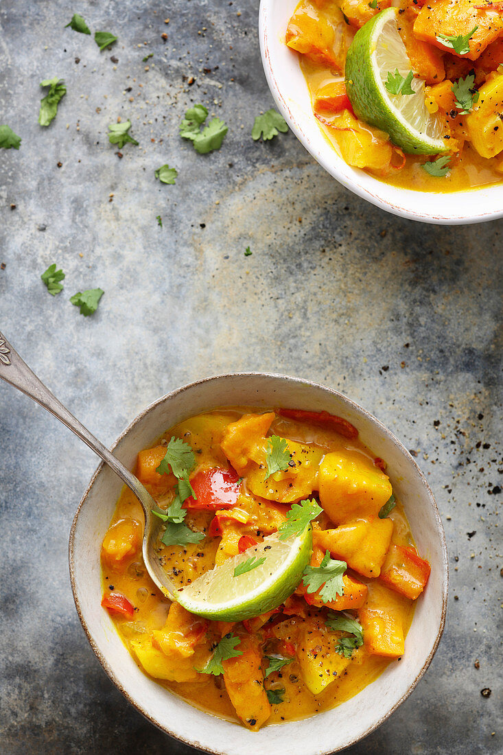
<svg viewBox="0 0 503 755"><path fill-rule="evenodd" d="M398 100L418 90L414 82L424 84L422 103L443 140L440 160L431 159L432 150L410 153L400 140L393 142L385 125L376 128L372 102L356 103L348 86L355 35L390 6L397 8L412 88L400 88L403 77L394 63L384 87L400 108ZM503 2L301 0L285 32L286 44L300 56L320 128L349 165L419 191L452 192L501 181Z"/></svg>

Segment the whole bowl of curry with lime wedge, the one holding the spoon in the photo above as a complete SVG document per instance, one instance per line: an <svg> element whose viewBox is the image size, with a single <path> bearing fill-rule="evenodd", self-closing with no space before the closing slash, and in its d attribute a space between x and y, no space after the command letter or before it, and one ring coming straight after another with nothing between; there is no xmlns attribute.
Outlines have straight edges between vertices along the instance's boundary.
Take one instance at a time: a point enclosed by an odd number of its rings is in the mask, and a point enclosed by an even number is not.
<svg viewBox="0 0 503 755"><path fill-rule="evenodd" d="M69 542L103 669L169 735L211 753L333 753L379 726L433 658L447 556L424 475L341 393L265 373L209 377L114 444L156 501L97 468Z"/></svg>

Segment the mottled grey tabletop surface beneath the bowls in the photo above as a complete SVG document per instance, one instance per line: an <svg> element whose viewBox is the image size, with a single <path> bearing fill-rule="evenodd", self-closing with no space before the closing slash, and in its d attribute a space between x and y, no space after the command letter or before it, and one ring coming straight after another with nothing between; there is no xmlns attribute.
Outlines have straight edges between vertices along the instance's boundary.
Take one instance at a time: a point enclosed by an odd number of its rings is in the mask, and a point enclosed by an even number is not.
<svg viewBox="0 0 503 755"><path fill-rule="evenodd" d="M112 52L63 29L75 11L119 35ZM3 0L0 122L23 143L0 150L0 329L107 443L157 396L221 371L298 374L374 412L437 495L451 590L430 670L350 753L501 752L503 225L399 220L338 186L292 134L254 143L272 105L257 18L257 0ZM68 93L42 129L39 82L54 75ZM209 156L177 136L198 101L230 124ZM122 159L106 137L118 116L140 142ZM165 162L175 186L153 177ZM54 298L39 278L53 261L66 272ZM68 298L97 285L85 319ZM0 750L186 755L116 691L73 606L67 535L95 466L0 385Z"/></svg>

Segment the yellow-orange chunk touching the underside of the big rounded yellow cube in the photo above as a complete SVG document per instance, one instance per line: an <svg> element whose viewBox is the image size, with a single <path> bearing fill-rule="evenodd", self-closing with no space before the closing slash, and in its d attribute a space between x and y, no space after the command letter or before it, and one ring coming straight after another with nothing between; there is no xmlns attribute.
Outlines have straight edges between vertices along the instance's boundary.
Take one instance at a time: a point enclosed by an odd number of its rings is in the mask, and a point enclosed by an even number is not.
<svg viewBox="0 0 503 755"><path fill-rule="evenodd" d="M378 577L393 535L393 521L369 516L337 529L316 529L314 541L364 577Z"/></svg>

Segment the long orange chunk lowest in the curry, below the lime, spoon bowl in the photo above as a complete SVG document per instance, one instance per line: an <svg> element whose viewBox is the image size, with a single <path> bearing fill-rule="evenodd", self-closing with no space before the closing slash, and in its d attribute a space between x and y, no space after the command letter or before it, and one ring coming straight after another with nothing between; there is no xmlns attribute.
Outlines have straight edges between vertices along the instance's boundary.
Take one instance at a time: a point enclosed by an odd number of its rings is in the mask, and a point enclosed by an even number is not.
<svg viewBox="0 0 503 755"><path fill-rule="evenodd" d="M262 655L257 637L241 636L240 639L237 649L242 655L222 661L225 689L242 723L258 732L270 716L261 669Z"/></svg>

